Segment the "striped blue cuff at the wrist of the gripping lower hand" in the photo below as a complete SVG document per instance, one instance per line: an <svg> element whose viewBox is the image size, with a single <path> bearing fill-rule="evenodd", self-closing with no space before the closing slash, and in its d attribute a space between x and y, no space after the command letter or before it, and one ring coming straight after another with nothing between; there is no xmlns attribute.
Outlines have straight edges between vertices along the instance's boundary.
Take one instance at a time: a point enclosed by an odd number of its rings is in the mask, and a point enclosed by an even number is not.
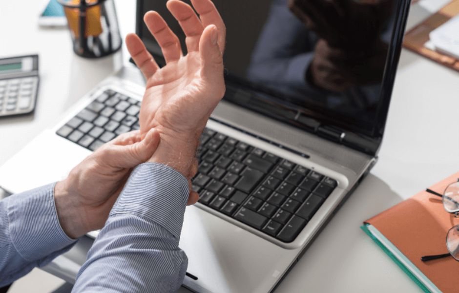
<svg viewBox="0 0 459 293"><path fill-rule="evenodd" d="M59 223L54 203L55 185L48 184L7 198L11 240L26 260L41 259L75 242Z"/></svg>

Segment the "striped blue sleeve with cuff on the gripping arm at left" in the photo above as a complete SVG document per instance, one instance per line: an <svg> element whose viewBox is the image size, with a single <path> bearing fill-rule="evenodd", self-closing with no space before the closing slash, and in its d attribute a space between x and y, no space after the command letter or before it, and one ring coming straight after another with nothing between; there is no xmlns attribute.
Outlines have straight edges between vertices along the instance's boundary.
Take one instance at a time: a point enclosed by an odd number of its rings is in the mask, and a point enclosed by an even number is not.
<svg viewBox="0 0 459 293"><path fill-rule="evenodd" d="M59 224L54 186L0 201L0 287L45 266L74 245Z"/></svg>

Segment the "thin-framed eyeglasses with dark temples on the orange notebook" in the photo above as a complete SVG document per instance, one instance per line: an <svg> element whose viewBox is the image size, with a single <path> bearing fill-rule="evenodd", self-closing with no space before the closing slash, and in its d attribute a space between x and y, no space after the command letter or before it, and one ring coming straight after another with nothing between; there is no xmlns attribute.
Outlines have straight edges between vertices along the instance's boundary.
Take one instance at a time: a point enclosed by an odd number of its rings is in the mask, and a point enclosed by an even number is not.
<svg viewBox="0 0 459 293"><path fill-rule="evenodd" d="M429 188L425 191L441 197L443 201L443 208L447 212L453 214L455 218L459 218L459 179L458 182L448 185L443 194L435 192ZM446 248L449 253L422 256L421 261L426 262L448 256L452 256L455 260L459 261L459 225L451 228L446 234Z"/></svg>

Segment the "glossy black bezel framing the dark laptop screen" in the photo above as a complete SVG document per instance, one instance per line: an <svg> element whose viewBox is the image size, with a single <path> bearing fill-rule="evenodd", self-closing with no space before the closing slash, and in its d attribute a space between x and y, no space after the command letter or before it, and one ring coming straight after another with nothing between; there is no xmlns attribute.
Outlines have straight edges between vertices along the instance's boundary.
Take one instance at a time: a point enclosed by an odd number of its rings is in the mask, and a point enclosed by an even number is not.
<svg viewBox="0 0 459 293"><path fill-rule="evenodd" d="M144 0L137 0L136 33L145 42L145 39L143 38L143 3ZM338 134L337 138L330 135L321 136L334 142L350 146L358 151L362 151L367 154L376 156L384 134L384 128L387 120L389 105L394 87L398 60L402 49L403 36L406 21L408 18L410 4L410 0L396 1L396 15L394 20L394 28L392 32L392 39L390 42L389 50L387 53L387 60L383 72L380 99L376 107L375 123L371 130L363 130L361 127L359 128L353 125L346 124L346 119L344 118L344 116L341 120L339 120L336 119L338 116L334 113L332 118L328 118L323 113L314 112L313 110L310 111L310 113L308 113L307 117L308 120L311 119L314 121L313 126L306 126L304 124L302 125L296 123L296 121L293 121L291 118L283 117L282 114L276 115L276 113L272 113L272 106L269 107L269 109L265 110L260 109L260 107L248 106L247 95L243 95L244 98L239 97L237 95L231 95L231 97L228 97L227 95L224 99L230 103L234 103L236 105L243 105L244 107L249 108L250 110L253 110L265 116L269 116L281 122L301 128L304 131L314 132L321 135L321 133L329 132L329 130L319 131L319 128L321 127L324 129L334 129L334 131L336 130L338 133L342 132L345 135ZM146 33L149 34L149 32ZM150 53L154 56L154 58L159 61L158 63L164 63L164 58L162 56L161 50L157 47L156 44L152 44L152 46L146 44L146 46L149 49ZM230 83L228 79L226 82L227 84ZM251 90L253 91L253 89ZM281 105L281 103L279 103L278 108L287 109L288 107L286 107L283 104Z"/></svg>

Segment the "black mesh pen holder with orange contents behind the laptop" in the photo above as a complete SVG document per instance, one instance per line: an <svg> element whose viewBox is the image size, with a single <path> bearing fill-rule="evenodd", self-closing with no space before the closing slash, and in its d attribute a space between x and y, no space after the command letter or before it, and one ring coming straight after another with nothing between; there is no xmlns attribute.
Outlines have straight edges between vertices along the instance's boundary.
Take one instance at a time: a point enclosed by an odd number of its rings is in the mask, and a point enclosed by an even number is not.
<svg viewBox="0 0 459 293"><path fill-rule="evenodd" d="M121 35L113 0L59 0L64 7L73 51L99 58L121 48Z"/></svg>

